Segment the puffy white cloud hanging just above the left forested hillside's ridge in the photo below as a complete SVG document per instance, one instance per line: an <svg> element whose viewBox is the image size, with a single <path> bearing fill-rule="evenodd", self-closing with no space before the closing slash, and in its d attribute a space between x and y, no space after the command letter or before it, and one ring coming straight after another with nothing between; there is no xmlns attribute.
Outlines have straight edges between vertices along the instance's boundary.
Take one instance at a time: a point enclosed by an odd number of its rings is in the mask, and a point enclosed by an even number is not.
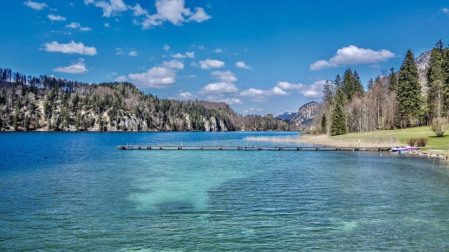
<svg viewBox="0 0 449 252"><path fill-rule="evenodd" d="M130 73L128 78L139 87L164 88L175 83L176 71L168 67L153 66L145 73Z"/></svg>

